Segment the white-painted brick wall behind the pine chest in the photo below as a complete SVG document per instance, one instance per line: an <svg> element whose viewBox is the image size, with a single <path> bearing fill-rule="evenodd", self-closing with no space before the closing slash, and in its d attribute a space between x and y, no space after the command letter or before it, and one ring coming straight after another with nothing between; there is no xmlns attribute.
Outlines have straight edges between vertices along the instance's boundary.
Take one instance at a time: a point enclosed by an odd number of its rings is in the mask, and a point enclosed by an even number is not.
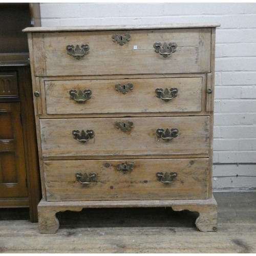
<svg viewBox="0 0 256 256"><path fill-rule="evenodd" d="M256 188L255 3L42 3L40 9L46 27L220 23L216 32L214 188Z"/></svg>

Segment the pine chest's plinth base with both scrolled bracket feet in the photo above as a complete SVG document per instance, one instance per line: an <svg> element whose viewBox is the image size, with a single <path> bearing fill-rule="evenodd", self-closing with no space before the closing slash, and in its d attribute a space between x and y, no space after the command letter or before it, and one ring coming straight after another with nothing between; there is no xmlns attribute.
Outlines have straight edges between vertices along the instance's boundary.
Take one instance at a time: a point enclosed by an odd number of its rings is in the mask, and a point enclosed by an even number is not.
<svg viewBox="0 0 256 256"><path fill-rule="evenodd" d="M214 197L207 200L133 200L133 201L92 201L88 202L46 202L38 204L39 231L55 233L59 221L55 214L58 211L81 211L90 207L172 207L174 210L188 209L199 212L196 226L200 231L217 231L217 203Z"/></svg>

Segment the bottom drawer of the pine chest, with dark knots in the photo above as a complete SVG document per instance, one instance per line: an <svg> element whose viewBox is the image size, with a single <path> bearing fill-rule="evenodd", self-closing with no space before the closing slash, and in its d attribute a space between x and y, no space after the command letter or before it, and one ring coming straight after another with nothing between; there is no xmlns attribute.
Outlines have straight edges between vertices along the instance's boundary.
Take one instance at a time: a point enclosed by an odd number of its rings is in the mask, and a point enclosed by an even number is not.
<svg viewBox="0 0 256 256"><path fill-rule="evenodd" d="M47 201L207 199L208 172L208 159L44 161Z"/></svg>

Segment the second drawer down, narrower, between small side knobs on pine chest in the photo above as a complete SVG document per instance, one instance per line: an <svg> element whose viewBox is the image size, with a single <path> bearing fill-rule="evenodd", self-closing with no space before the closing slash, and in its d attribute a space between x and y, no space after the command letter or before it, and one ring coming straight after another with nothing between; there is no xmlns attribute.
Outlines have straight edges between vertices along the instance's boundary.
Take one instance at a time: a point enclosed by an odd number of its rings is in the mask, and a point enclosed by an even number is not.
<svg viewBox="0 0 256 256"><path fill-rule="evenodd" d="M202 81L202 77L45 81L46 113L200 112Z"/></svg>

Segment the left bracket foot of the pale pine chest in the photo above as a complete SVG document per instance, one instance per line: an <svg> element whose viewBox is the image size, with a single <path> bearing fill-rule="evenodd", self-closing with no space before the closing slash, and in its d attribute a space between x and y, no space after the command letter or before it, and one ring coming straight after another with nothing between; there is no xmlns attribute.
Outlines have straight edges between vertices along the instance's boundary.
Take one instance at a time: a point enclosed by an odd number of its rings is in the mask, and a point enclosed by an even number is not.
<svg viewBox="0 0 256 256"><path fill-rule="evenodd" d="M59 221L56 218L56 212L58 212L58 210L51 206L41 205L41 202L38 204L37 210L40 233L56 233L59 228Z"/></svg>

